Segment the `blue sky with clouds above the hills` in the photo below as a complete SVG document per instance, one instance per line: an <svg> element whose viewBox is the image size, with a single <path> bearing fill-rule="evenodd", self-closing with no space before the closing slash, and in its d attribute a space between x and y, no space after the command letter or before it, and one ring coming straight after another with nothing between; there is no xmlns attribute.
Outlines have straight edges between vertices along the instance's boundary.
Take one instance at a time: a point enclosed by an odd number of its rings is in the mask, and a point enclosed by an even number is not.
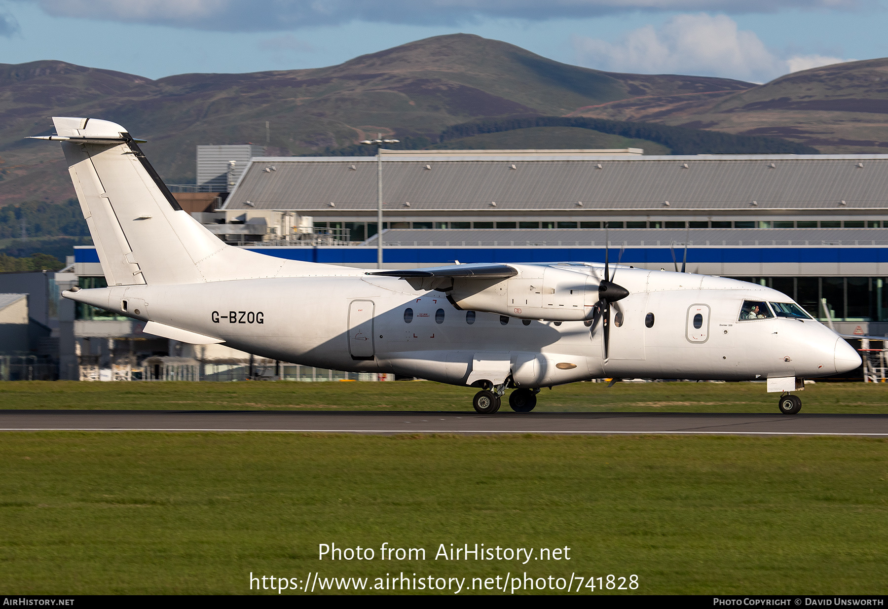
<svg viewBox="0 0 888 609"><path fill-rule="evenodd" d="M324 67L463 32L583 67L765 83L888 56L888 0L0 0L0 63L161 78Z"/></svg>

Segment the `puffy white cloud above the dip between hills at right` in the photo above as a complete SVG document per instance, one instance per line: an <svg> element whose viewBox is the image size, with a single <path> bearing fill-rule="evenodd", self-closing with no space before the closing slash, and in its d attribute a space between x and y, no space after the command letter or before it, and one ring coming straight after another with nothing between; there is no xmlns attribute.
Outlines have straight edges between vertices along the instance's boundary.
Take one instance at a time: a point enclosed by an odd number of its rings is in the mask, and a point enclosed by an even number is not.
<svg viewBox="0 0 888 609"><path fill-rule="evenodd" d="M710 75L755 83L846 60L821 55L783 59L730 17L706 13L678 15L659 28L638 28L616 43L578 36L574 46L582 65L612 72Z"/></svg>

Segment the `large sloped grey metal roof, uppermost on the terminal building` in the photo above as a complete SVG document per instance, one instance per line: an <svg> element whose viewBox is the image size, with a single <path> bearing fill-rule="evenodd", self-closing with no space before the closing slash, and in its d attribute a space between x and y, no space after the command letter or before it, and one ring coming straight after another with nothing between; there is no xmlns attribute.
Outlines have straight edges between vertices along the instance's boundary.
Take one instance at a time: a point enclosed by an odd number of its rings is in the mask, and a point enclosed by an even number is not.
<svg viewBox="0 0 888 609"><path fill-rule="evenodd" d="M383 194L392 211L888 210L888 154L591 160L429 154L385 159ZM369 211L376 205L373 157L267 157L252 159L226 209Z"/></svg>

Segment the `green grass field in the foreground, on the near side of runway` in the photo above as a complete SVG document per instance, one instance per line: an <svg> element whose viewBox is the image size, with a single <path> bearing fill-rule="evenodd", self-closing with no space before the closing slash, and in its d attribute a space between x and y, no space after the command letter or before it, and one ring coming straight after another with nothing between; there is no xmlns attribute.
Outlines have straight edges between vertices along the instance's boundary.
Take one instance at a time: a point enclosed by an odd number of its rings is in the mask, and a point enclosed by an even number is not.
<svg viewBox="0 0 888 609"><path fill-rule="evenodd" d="M888 592L885 440L9 432L0 460L9 594L244 594L250 572ZM329 542L376 559L321 562ZM383 542L426 560L380 561ZM476 542L572 559L434 559Z"/></svg>

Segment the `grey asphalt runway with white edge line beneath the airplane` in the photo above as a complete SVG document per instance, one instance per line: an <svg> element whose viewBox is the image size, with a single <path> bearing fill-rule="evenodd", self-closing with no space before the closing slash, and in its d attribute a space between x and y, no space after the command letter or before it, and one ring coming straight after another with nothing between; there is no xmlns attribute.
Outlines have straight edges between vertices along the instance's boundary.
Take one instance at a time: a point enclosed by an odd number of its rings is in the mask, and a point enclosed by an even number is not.
<svg viewBox="0 0 888 609"><path fill-rule="evenodd" d="M888 438L888 415L0 410L0 431L718 434Z"/></svg>

